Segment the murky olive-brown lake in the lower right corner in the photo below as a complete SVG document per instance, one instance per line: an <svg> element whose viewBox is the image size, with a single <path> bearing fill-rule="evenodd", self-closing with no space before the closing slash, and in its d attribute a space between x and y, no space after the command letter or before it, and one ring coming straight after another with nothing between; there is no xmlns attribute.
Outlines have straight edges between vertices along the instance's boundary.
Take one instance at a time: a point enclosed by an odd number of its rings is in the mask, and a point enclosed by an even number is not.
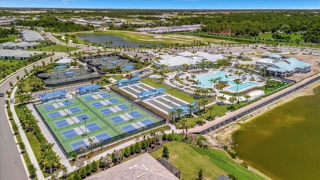
<svg viewBox="0 0 320 180"><path fill-rule="evenodd" d="M320 179L319 89L239 124L239 158L272 179Z"/></svg>

